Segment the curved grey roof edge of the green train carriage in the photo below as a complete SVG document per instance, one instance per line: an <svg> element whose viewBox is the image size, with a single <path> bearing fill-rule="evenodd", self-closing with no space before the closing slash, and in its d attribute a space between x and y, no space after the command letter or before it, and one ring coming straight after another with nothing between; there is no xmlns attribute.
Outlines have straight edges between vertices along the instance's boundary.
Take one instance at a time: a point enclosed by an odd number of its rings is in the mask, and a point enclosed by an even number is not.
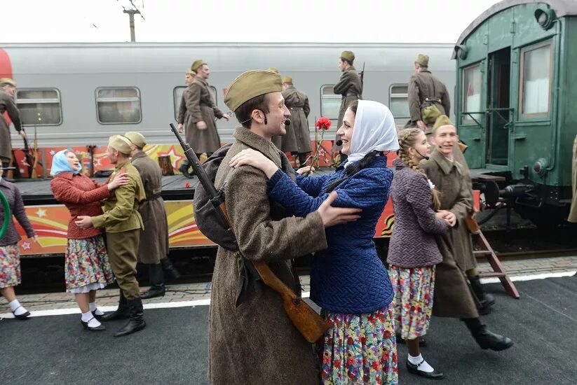
<svg viewBox="0 0 577 385"><path fill-rule="evenodd" d="M557 18L562 18L564 16L577 15L577 1L576 0L503 0L499 3L494 4L489 9L485 10L481 15L479 15L470 25L463 31L459 40L456 44L462 44L463 41L473 32L477 27L483 24L483 22L496 13L501 12L507 8L512 8L514 6L520 6L523 4L536 4L543 3L547 4L552 10L555 11ZM456 52L453 52L451 57L456 59Z"/></svg>

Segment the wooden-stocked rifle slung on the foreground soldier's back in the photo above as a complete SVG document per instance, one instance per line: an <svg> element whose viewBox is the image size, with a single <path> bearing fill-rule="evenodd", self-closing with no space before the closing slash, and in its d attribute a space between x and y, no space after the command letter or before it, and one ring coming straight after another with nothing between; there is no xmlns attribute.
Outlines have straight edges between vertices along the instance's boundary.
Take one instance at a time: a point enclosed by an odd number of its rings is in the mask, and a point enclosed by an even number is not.
<svg viewBox="0 0 577 385"><path fill-rule="evenodd" d="M182 146L184 155L193 167L196 176L198 176L198 180L203 185L203 188L205 188L205 190L213 198L211 202L215 204L215 209L217 209L217 211L222 215L224 223L226 223L226 225L228 225L230 228L231 221L229 219L229 215L226 213L226 202L224 202L224 196L219 195L215 186L212 185L212 182L203 169L201 162L198 160L196 154L194 151L192 151L192 148L189 146L189 144L184 143L184 140L182 140L182 137L177 130L177 127L173 123L170 123L170 129L177 137L180 146ZM218 197L220 197L220 199L215 199ZM271 268L266 264L266 262L250 261L244 257L243 259L245 263L252 263L254 269L257 270L259 276L262 278L264 284L276 291L278 295L283 298L283 307L285 308L287 316L308 342L311 342L312 344L313 342L316 342L317 339L319 339L323 334L325 334L325 331L328 330L329 325L316 313L316 311L308 306L308 304L301 297L297 296L288 286L285 285L283 281L280 281L278 276L272 272Z"/></svg>

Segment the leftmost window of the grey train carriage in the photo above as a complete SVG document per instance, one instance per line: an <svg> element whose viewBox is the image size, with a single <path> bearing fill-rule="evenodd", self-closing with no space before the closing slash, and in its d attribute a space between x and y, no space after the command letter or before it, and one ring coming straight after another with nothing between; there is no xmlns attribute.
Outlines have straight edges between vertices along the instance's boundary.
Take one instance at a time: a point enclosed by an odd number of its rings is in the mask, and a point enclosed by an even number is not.
<svg viewBox="0 0 577 385"><path fill-rule="evenodd" d="M22 88L16 104L23 125L51 126L62 123L60 92L55 88Z"/></svg>

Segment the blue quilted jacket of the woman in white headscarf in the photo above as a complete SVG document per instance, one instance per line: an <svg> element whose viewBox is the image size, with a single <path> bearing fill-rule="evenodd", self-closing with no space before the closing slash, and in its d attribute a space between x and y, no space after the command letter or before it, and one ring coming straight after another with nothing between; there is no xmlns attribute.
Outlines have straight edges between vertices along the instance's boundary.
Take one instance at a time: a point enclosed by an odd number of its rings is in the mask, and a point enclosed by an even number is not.
<svg viewBox="0 0 577 385"><path fill-rule="evenodd" d="M327 187L345 176L341 165L334 173L323 176L297 174L295 184L279 170L269 179L269 197L295 216L306 216L327 198ZM386 157L379 156L372 165L335 188L339 196L332 204L334 207L358 207L362 213L355 222L327 228L329 248L313 258L311 300L323 309L371 313L393 300L391 281L372 240L376 221L388 200L391 181L393 172L386 167Z"/></svg>

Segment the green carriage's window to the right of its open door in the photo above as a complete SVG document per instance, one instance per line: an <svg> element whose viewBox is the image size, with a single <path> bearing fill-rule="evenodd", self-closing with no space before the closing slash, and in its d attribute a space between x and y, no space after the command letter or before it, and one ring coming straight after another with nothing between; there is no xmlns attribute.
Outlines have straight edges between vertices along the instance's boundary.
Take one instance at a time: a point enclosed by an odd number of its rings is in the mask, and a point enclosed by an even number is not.
<svg viewBox="0 0 577 385"><path fill-rule="evenodd" d="M521 50L520 111L524 117L549 113L552 78L550 41Z"/></svg>

